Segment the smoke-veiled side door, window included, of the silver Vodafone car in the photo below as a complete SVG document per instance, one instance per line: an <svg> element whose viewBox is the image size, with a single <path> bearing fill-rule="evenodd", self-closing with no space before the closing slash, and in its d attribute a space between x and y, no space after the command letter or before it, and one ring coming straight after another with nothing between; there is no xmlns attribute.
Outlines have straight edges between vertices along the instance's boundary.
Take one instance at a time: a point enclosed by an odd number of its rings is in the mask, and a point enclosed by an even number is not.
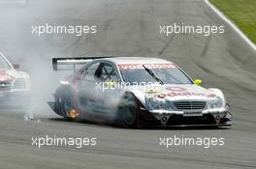
<svg viewBox="0 0 256 169"><path fill-rule="evenodd" d="M80 109L91 115L109 117L112 114L115 90L106 88L106 85L117 83L119 77L111 63L97 62L80 72L78 87L78 99Z"/></svg>

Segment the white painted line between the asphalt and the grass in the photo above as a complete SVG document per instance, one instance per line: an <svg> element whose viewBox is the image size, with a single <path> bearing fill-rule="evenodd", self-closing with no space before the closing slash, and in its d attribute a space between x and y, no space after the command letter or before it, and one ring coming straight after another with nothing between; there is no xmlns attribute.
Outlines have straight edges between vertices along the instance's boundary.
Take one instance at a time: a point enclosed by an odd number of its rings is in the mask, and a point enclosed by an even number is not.
<svg viewBox="0 0 256 169"><path fill-rule="evenodd" d="M205 2L208 4L208 6L216 13L218 14L223 20L225 20L239 35L240 37L247 42L252 49L254 49L256 51L256 45L251 42L241 31L240 28L234 24L230 19L228 19L228 17L224 14L222 14L215 6L213 6L208 0L205 0Z"/></svg>

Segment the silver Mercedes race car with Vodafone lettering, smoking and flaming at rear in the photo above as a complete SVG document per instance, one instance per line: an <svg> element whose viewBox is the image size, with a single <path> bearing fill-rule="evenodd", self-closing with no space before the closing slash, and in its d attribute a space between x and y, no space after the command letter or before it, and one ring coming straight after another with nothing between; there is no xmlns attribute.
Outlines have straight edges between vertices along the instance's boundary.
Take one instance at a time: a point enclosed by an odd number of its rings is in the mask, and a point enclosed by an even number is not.
<svg viewBox="0 0 256 169"><path fill-rule="evenodd" d="M66 120L125 127L231 126L219 89L205 89L175 63L145 57L53 58L53 70L74 70L48 104Z"/></svg>

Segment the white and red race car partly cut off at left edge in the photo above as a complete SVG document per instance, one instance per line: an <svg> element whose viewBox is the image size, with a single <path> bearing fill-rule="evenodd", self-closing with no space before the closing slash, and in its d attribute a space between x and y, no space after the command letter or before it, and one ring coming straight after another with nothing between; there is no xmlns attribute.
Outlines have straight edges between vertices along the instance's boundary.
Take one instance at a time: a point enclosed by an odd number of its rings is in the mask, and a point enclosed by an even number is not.
<svg viewBox="0 0 256 169"><path fill-rule="evenodd" d="M0 53L0 108L23 109L30 104L30 76L18 69Z"/></svg>

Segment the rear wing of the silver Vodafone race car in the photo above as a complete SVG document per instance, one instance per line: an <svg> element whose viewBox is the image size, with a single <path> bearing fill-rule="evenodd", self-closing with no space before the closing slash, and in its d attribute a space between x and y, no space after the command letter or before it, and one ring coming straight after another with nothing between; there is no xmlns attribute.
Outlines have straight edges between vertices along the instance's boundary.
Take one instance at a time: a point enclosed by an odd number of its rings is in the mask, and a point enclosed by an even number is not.
<svg viewBox="0 0 256 169"><path fill-rule="evenodd" d="M52 58L53 70L79 70L80 67L95 60L110 57L75 57L75 58Z"/></svg>

